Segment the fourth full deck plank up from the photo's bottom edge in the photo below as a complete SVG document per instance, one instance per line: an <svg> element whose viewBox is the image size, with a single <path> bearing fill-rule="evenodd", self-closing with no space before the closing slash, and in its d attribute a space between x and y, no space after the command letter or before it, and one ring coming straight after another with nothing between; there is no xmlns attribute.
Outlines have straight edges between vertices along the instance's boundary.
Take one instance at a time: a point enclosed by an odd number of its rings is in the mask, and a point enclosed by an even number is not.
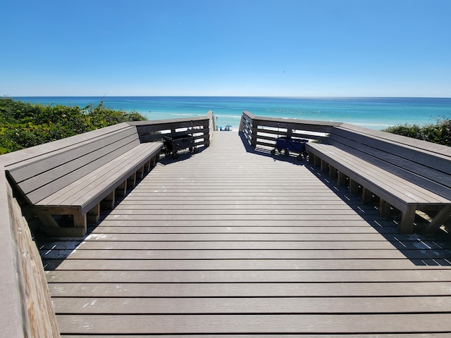
<svg viewBox="0 0 451 338"><path fill-rule="evenodd" d="M58 270L49 271L51 283L311 283L331 282L448 282L446 269L424 270ZM400 284L399 284L400 285ZM375 295L377 296L377 295ZM423 299L424 300L424 299Z"/></svg>

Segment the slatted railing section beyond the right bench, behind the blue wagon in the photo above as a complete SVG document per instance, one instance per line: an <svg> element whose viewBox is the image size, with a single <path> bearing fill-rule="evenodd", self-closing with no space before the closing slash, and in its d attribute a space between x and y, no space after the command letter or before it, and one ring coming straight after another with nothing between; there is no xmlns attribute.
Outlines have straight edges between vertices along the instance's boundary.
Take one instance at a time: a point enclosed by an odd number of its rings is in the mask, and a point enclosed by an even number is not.
<svg viewBox="0 0 451 338"><path fill-rule="evenodd" d="M273 147L278 137L325 140L330 130L341 124L327 121L266 118L244 111L240 122L240 132L244 134L251 146Z"/></svg>

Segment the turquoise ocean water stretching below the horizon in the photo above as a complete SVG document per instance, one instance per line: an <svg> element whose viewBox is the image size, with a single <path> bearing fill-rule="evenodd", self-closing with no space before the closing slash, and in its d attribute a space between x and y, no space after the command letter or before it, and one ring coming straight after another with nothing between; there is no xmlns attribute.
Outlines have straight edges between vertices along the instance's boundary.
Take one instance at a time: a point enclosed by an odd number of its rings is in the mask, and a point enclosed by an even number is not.
<svg viewBox="0 0 451 338"><path fill-rule="evenodd" d="M137 111L149 120L186 118L213 111L218 125L237 129L242 111L276 118L299 118L347 122L381 130L404 123L424 125L438 118L451 118L451 98L288 98L288 97L194 97L194 96L45 96L15 97L40 104L84 107L99 104L124 111Z"/></svg>

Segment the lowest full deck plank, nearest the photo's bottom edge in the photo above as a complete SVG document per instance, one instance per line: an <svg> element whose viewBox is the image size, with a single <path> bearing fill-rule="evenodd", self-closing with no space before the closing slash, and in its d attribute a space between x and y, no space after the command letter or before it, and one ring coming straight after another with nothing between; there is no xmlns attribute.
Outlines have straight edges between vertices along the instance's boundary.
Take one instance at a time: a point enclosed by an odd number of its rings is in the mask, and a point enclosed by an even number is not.
<svg viewBox="0 0 451 338"><path fill-rule="evenodd" d="M448 313L281 315L59 315L64 332L85 334L407 333L449 330ZM358 325L356 325L358 324ZM67 331L66 331L67 330Z"/></svg>

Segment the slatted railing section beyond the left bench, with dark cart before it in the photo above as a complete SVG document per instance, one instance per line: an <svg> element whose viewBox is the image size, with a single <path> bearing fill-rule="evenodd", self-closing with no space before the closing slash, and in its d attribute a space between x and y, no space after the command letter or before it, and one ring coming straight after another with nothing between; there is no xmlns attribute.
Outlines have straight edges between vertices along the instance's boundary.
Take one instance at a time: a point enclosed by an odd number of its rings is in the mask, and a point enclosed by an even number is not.
<svg viewBox="0 0 451 338"><path fill-rule="evenodd" d="M163 136L192 134L196 146L209 146L215 130L214 123L213 112L209 111L205 116L190 119L139 121L130 125L136 125L141 142L158 141Z"/></svg>

